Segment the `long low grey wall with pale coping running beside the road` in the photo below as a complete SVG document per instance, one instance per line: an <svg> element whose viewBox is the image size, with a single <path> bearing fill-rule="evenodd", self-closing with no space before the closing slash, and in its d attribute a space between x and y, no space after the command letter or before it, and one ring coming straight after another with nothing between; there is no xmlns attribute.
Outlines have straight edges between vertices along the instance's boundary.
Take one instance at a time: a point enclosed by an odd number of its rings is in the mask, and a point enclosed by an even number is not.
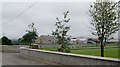
<svg viewBox="0 0 120 67"><path fill-rule="evenodd" d="M61 53L37 49L20 48L20 56L36 60L46 60L65 65L114 65L120 63L118 59L103 58L88 55Z"/></svg>

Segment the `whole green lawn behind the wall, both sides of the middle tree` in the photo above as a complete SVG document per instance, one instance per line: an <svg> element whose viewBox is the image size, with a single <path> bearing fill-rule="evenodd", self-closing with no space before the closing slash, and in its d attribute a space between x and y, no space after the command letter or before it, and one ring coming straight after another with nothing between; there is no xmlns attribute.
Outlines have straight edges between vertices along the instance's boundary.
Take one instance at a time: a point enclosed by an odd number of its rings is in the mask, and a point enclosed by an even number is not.
<svg viewBox="0 0 120 67"><path fill-rule="evenodd" d="M105 57L110 58L120 58L118 55L118 46L105 46ZM42 48L42 50L57 51L57 48ZM71 49L71 53L74 54L83 54L83 55L92 55L100 56L100 47L99 46L81 46L75 49Z"/></svg>

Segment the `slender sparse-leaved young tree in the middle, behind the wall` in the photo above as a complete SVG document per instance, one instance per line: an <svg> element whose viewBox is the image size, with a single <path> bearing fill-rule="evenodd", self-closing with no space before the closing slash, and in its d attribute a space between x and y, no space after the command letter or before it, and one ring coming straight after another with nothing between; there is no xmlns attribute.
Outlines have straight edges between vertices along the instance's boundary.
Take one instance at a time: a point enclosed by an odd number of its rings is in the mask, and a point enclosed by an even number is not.
<svg viewBox="0 0 120 67"><path fill-rule="evenodd" d="M63 20L56 18L56 30L52 31L52 35L54 35L57 39L57 43L61 45L58 49L61 52L70 52L70 48L68 47L70 36L67 35L70 30L70 26L67 23L70 21L70 18L67 18L69 11L64 12Z"/></svg>

